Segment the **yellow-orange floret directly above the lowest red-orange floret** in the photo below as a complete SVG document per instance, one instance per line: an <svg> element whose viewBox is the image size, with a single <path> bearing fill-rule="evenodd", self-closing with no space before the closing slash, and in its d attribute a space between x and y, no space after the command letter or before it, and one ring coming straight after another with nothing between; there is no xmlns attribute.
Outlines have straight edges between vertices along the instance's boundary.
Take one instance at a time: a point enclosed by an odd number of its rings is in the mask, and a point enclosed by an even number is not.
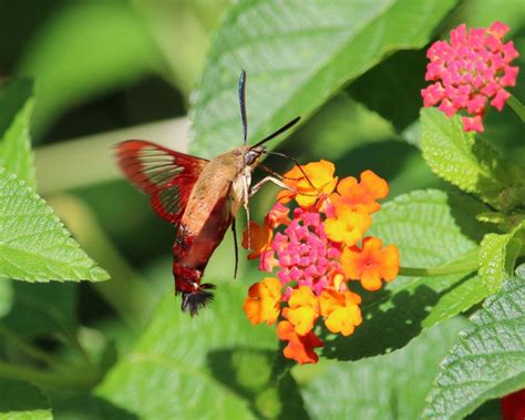
<svg viewBox="0 0 525 420"><path fill-rule="evenodd" d="M319 318L319 301L311 288L300 286L294 289L288 308L282 309L282 316L294 325L297 334L303 336L310 331Z"/></svg>

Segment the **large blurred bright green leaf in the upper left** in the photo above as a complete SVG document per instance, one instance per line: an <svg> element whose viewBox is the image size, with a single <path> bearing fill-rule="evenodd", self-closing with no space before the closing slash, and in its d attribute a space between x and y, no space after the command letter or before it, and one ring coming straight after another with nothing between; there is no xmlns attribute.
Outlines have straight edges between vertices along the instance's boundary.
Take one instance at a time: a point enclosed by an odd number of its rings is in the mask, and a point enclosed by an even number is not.
<svg viewBox="0 0 525 420"><path fill-rule="evenodd" d="M161 69L161 60L130 2L63 3L39 25L20 58L19 72L38 76L33 132L42 133L82 101Z"/></svg>

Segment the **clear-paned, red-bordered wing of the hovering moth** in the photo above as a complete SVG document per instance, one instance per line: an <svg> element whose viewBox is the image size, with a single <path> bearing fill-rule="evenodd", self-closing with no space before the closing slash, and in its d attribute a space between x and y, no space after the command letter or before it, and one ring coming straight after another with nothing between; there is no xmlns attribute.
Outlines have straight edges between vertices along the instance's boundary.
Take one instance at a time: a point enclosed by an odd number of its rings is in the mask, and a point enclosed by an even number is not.
<svg viewBox="0 0 525 420"><path fill-rule="evenodd" d="M148 194L153 209L174 225L181 221L189 194L209 162L140 140L119 143L116 155L130 182Z"/></svg>

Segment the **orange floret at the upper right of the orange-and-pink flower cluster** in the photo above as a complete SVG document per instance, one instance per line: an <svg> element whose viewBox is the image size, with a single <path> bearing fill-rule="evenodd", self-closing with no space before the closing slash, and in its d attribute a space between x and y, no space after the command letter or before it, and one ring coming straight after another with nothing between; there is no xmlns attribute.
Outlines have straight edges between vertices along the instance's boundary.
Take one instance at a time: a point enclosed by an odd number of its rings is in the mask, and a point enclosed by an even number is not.
<svg viewBox="0 0 525 420"><path fill-rule="evenodd" d="M347 205L350 208L363 208L367 213L374 213L381 208L378 198L389 194L387 181L375 175L372 171L361 173L361 182L353 176L341 180L337 193L330 195L336 207Z"/></svg>

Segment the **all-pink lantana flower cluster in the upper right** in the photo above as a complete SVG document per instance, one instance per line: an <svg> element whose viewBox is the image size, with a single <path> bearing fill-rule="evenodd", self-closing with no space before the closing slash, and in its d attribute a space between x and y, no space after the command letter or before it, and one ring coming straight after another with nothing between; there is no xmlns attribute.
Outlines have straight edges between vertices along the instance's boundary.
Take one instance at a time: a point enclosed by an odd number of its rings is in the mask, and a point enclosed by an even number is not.
<svg viewBox="0 0 525 420"><path fill-rule="evenodd" d="M464 131L483 132L483 116L488 105L502 111L516 84L518 57L513 41L503 43L508 27L494 22L488 29L466 30L463 23L451 31L451 41L434 42L426 57L425 80L433 81L421 91L425 107L439 105L447 116L466 111Z"/></svg>

